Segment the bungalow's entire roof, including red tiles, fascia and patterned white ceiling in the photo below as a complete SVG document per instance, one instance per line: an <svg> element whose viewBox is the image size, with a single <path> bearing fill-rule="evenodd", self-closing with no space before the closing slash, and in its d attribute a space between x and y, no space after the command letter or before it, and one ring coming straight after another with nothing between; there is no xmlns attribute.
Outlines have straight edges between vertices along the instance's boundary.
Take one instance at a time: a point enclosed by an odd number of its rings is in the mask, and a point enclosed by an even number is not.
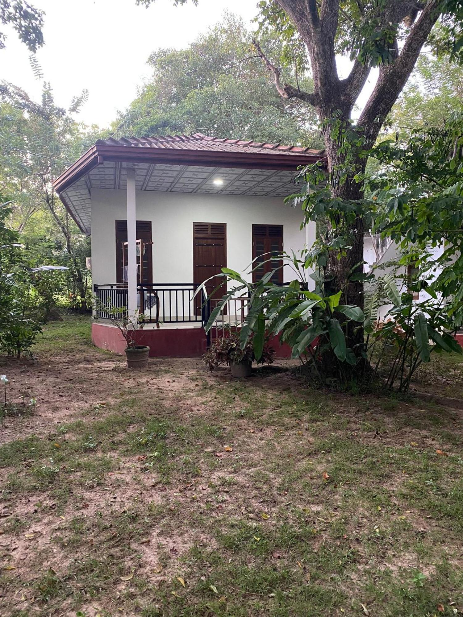
<svg viewBox="0 0 463 617"><path fill-rule="evenodd" d="M125 189L127 167L135 169L138 191L285 197L294 192L296 169L324 158L320 150L201 133L99 139L53 186L81 231L90 233L91 189Z"/></svg>

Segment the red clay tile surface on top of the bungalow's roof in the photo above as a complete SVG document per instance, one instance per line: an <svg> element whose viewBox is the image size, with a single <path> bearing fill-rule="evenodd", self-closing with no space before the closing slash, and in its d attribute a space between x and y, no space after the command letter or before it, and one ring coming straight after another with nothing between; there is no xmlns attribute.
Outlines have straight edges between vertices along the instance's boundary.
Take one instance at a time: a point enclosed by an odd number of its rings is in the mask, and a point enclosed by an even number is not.
<svg viewBox="0 0 463 617"><path fill-rule="evenodd" d="M302 154L319 155L323 150L313 150L301 146L283 146L282 144L269 144L264 141L248 141L245 139L227 139L219 137L209 137L202 133L194 135L165 135L162 137L130 137L114 139L98 139L96 146L135 146L146 148L168 148L183 150L204 150L217 152L242 152L254 154L266 154L268 152L278 152L279 154Z"/></svg>

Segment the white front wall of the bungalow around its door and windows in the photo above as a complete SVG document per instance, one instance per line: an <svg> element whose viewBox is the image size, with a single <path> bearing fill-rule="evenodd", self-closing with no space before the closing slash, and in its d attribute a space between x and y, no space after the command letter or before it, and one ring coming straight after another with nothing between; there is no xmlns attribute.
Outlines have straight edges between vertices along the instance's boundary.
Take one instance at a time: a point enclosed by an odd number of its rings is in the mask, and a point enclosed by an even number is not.
<svg viewBox="0 0 463 617"><path fill-rule="evenodd" d="M227 267L249 271L252 225L283 225L283 249L299 251L315 239L315 225L301 230L302 211L281 197L136 191L137 220L151 220L154 283L193 281L193 222L227 223ZM115 221L127 219L125 191L91 189L93 283L115 283ZM308 273L307 273L308 274ZM252 275L246 275L251 281ZM293 280L285 266L283 280Z"/></svg>

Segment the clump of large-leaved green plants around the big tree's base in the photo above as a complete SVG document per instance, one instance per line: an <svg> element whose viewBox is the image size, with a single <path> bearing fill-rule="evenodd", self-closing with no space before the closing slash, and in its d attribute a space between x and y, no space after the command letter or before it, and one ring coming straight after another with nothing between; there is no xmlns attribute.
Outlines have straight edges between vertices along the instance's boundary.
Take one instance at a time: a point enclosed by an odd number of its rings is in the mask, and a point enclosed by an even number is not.
<svg viewBox="0 0 463 617"><path fill-rule="evenodd" d="M346 384L351 374L349 370L359 362L359 354L346 343L346 329L362 325L365 338L361 357L367 370L362 369L361 385L369 386L379 378L388 387L398 383L401 391L409 387L420 364L430 361L432 352L462 352L449 330L449 318L441 300L430 297L423 302L414 302L412 294L399 289L396 278L386 274L377 280L363 310L356 305L340 304L341 290L324 295L323 281L315 275L312 275L315 291L307 289L306 253L299 257L294 254L278 256L283 262L291 263L296 275L293 281L283 285L272 282L278 268L265 274L257 283L249 283L231 268L222 268L219 275L211 278L226 278L230 289L212 311L206 331L214 326L228 300L244 296L248 313L240 325L242 349L252 339L254 355L259 360L265 341L270 336L278 336L281 342L290 345L291 357L300 358L320 383L326 381L320 367L328 351L328 356L334 354L337 362L337 366L330 368L334 369L338 380ZM275 260L274 255L271 260ZM196 294L202 291L207 297L208 281L204 281ZM222 281L209 298L220 286ZM380 313L384 315L383 320L380 320Z"/></svg>

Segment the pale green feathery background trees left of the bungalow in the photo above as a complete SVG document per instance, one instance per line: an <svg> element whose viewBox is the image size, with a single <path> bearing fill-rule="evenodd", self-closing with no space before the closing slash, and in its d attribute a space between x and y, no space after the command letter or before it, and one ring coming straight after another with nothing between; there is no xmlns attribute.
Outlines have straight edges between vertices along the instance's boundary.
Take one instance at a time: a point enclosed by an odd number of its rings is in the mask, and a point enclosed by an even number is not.
<svg viewBox="0 0 463 617"><path fill-rule="evenodd" d="M33 245L37 259L69 268L72 304L81 309L86 308L85 257L90 246L52 190L51 181L93 141L73 119L86 96L81 93L65 110L56 106L48 83L40 103L20 88L0 85L0 187L13 202L11 225L21 232L25 244Z"/></svg>

